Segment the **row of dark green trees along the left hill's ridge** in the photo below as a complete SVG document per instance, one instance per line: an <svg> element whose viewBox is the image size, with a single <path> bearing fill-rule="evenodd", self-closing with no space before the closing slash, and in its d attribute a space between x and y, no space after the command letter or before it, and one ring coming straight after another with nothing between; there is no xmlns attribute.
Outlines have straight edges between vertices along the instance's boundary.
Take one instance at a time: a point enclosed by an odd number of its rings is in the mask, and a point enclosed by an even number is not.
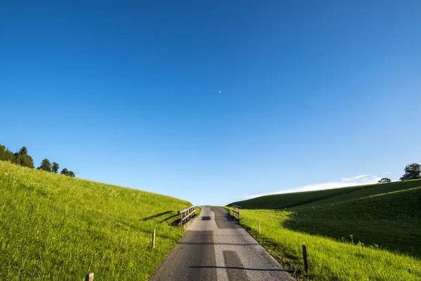
<svg viewBox="0 0 421 281"><path fill-rule="evenodd" d="M28 150L25 146L22 146L18 152L13 153L11 150L6 148L6 146L0 144L0 160L8 161L20 166L26 166L31 169L35 168L34 159L32 159L31 155L28 154ZM58 170L60 169L60 165L57 162L53 162L53 164L51 164L50 160L45 158L41 161L41 164L36 169L57 174ZM75 176L73 171L69 171L66 168L63 168L60 171L60 174L72 177Z"/></svg>

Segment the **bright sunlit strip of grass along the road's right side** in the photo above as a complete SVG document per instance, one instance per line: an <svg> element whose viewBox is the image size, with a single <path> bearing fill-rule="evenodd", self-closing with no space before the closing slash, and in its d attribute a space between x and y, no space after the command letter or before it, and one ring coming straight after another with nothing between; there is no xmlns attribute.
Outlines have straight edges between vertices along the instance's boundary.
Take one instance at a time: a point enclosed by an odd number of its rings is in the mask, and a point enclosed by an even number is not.
<svg viewBox="0 0 421 281"><path fill-rule="evenodd" d="M272 256L300 280L421 280L421 261L358 242L338 242L283 227L288 211L241 210L241 224ZM258 234L258 222L262 235ZM302 244L309 271L304 273Z"/></svg>

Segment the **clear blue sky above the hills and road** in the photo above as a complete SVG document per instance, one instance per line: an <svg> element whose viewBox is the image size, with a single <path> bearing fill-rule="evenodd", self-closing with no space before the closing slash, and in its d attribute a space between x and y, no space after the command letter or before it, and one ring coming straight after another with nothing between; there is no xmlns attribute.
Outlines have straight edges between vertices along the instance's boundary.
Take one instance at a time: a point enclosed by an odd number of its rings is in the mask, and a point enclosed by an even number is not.
<svg viewBox="0 0 421 281"><path fill-rule="evenodd" d="M193 204L397 180L421 161L420 14L420 1L3 1L0 143Z"/></svg>

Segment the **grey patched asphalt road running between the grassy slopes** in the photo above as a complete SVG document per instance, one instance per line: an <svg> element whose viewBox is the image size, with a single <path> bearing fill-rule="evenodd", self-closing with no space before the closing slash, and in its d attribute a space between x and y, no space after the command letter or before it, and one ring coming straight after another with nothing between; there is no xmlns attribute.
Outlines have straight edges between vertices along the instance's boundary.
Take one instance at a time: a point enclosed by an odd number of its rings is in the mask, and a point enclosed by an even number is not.
<svg viewBox="0 0 421 281"><path fill-rule="evenodd" d="M151 281L295 280L225 210L201 209Z"/></svg>

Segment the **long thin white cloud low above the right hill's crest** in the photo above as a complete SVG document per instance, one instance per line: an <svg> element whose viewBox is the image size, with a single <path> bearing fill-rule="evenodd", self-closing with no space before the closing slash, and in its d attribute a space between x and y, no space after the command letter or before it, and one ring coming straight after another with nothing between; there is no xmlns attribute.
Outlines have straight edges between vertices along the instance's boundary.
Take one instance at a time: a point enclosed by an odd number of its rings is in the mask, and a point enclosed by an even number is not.
<svg viewBox="0 0 421 281"><path fill-rule="evenodd" d="M291 188L287 190L278 190L275 192L270 192L266 194L256 194L256 195L246 195L243 199L252 199L255 197L260 197L264 195L274 195L274 194L285 194L292 192L305 192L305 191L314 191L314 190L325 190L333 188L346 188L348 186L356 185L367 185L373 184L380 181L380 177L373 174L364 174L359 176L354 176L352 178L342 178L342 181L330 182L330 183L315 183L311 185L304 185L298 188Z"/></svg>

